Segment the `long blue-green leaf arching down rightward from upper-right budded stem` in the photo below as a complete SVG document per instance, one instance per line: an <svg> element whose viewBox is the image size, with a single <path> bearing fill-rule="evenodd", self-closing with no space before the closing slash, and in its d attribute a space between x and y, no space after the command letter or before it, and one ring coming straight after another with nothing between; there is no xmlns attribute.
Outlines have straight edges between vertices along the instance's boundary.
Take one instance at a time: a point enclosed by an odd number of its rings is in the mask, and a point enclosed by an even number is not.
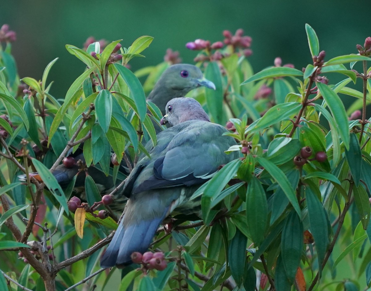
<svg viewBox="0 0 371 291"><path fill-rule="evenodd" d="M321 92L324 100L330 108L331 114L334 117L335 123L339 131L339 135L344 142L345 148L349 150L349 128L348 117L345 113L344 104L339 96L332 91L327 85L320 82L316 83L319 91Z"/></svg>

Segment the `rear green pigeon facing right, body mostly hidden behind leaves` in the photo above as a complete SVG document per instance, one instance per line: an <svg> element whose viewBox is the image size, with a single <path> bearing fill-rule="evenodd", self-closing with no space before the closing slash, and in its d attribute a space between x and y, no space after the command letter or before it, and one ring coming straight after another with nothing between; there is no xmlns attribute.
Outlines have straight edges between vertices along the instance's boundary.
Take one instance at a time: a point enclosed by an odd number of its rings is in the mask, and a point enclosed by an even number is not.
<svg viewBox="0 0 371 291"><path fill-rule="evenodd" d="M214 83L203 77L200 68L191 64L174 64L161 74L153 90L148 95L147 101L151 101L159 107L163 115L165 114L165 105L170 99L184 96L189 91L200 86L215 90ZM155 124L155 130L158 133L162 129ZM75 152L72 152L71 149L66 155L68 161L58 165L58 167L52 171L52 174L62 188L67 187L72 178L78 174L75 183L75 193L83 193L85 185L85 174L80 173L81 171L79 169L81 167L77 165L79 160L81 160L83 164L85 163L82 148L83 143L80 144ZM125 175L129 174L127 165L124 161L122 161L119 171ZM37 173L33 174L35 175ZM102 195L109 194L109 190L113 190L113 188L121 182L121 180L118 180L115 185L112 177L107 177L103 171L97 169L95 165L91 165L88 168L88 174L91 175ZM25 175L20 175L19 178L21 181L26 181ZM121 200L119 201L121 202ZM120 211L122 210L123 208Z"/></svg>

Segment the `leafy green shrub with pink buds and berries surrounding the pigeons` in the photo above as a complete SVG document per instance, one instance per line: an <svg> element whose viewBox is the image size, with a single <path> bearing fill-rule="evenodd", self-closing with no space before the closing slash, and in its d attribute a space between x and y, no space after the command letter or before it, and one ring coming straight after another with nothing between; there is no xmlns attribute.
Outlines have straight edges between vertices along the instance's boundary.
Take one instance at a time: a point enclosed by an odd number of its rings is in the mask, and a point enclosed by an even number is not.
<svg viewBox="0 0 371 291"><path fill-rule="evenodd" d="M201 196L203 220L175 217L171 234L158 231L152 248L165 251L167 267L154 271L141 259L141 269L122 271L119 290L370 287L371 130L366 104L371 39L357 46L359 54L325 61L315 31L308 24L305 29L312 61L303 70L282 66L277 58L274 66L253 74L247 60L251 39L241 30L234 36L224 31L226 46L203 40L187 44L200 51L197 65L206 66L205 77L216 85L215 91L197 89L190 96L204 104L212 121L226 124L227 134L239 141L229 151L240 151L242 158L221 167L191 197ZM1 48L0 226L6 225L0 237L0 248L6 250L1 290L15 290L15 282L33 290L70 290L85 277L92 289L95 284L99 290L109 286L112 271L100 273L98 264L117 217L111 213L104 219L85 208L70 212L67 201L76 178L63 191L49 169L83 141L86 166L98 167L114 180L125 150L132 160L147 154L143 138L156 142L150 116L157 123L160 116L158 108L146 104L145 92L169 63L135 74L126 66L151 41L139 37L128 49L118 46L120 40L104 49L93 42L86 51L67 45L87 69L64 100L51 96L51 83L47 85L56 59L41 80L22 78L24 87L10 42ZM351 70L359 63L362 73ZM346 78L331 84L332 73ZM142 86L138 78L144 76ZM359 79L362 91L350 87ZM339 94L358 99L346 110ZM361 119L355 117L359 108ZM111 164L111 150L116 165ZM38 176L30 175L35 170ZM18 181L22 173L24 184ZM99 191L92 179L85 183L92 205L100 199ZM35 222L47 225L37 228Z"/></svg>

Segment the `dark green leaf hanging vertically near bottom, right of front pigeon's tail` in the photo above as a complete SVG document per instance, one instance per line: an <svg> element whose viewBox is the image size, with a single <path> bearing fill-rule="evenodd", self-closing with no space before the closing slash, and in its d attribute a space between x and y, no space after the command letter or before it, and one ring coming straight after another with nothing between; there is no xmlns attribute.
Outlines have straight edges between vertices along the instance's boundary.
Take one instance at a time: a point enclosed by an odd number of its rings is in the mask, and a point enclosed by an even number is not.
<svg viewBox="0 0 371 291"><path fill-rule="evenodd" d="M242 285L243 270L246 261L246 244L247 238L237 229L228 249L228 264L237 286Z"/></svg>

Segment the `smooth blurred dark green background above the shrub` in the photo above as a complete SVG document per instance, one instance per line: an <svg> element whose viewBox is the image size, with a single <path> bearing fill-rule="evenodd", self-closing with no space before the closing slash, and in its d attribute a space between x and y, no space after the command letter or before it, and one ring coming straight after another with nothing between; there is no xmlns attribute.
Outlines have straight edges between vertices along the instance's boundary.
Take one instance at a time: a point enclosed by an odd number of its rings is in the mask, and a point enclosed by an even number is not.
<svg viewBox="0 0 371 291"><path fill-rule="evenodd" d="M223 40L222 31L243 28L252 37L255 71L273 65L279 56L296 68L311 61L305 34L309 23L318 34L320 49L331 57L357 53L371 35L370 1L0 1L0 25L16 31L13 43L19 76L39 80L45 66L59 57L50 72L51 93L63 98L84 65L65 49L82 47L89 36L97 40L123 39L128 47L142 35L154 37L143 54L130 64L133 71L163 60L167 48L180 52L185 63L193 63L195 51L185 43L197 38ZM336 83L331 80L330 83Z"/></svg>

